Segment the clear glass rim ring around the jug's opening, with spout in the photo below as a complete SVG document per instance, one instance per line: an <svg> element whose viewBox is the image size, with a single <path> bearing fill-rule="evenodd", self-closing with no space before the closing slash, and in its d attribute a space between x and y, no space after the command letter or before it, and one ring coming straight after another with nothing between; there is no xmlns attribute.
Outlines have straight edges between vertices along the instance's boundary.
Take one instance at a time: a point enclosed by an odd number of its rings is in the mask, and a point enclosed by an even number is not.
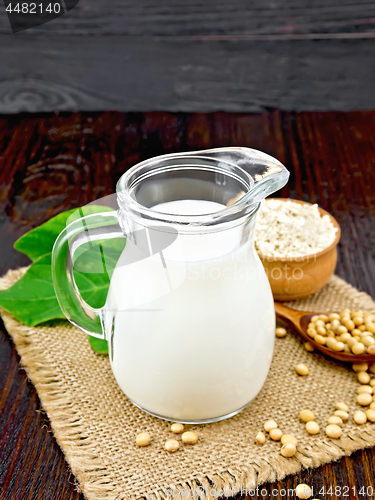
<svg viewBox="0 0 375 500"><path fill-rule="evenodd" d="M135 188L147 179L187 170L226 175L242 186L243 195L221 210L199 215L165 213L135 199ZM171 153L137 163L120 177L116 193L120 211L130 211L142 219L178 225L180 228L199 228L233 222L238 224L239 219L254 215L262 199L284 186L288 178L289 172L284 165L266 153L243 147L215 148Z"/></svg>

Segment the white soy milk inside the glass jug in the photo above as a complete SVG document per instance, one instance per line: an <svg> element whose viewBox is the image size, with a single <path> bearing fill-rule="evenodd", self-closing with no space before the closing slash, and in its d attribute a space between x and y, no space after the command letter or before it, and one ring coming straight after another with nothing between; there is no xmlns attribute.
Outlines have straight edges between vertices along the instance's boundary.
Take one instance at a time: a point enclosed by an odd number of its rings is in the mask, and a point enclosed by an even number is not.
<svg viewBox="0 0 375 500"><path fill-rule="evenodd" d="M223 208L182 200L153 210L201 215ZM131 257L136 245L127 242L104 324L116 380L141 408L169 420L210 420L237 412L260 391L275 315L252 236L241 244L241 235L242 226L181 234L163 255L142 260Z"/></svg>

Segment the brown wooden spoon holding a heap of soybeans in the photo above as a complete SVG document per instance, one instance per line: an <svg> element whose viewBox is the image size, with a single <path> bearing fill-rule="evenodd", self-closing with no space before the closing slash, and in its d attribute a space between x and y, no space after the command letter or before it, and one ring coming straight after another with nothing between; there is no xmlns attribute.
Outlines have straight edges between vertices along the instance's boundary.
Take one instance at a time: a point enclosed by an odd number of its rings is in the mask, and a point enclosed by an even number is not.
<svg viewBox="0 0 375 500"><path fill-rule="evenodd" d="M375 361L375 354L352 354L343 351L333 351L332 349L328 349L328 347L325 347L324 345L317 344L314 339L309 337L307 335L307 326L311 321L311 317L315 316L316 314L326 313L310 313L306 311L297 311L296 309L291 309L290 307L284 306L283 304L281 304L281 302L275 302L275 311L278 318L283 319L284 321L287 321L292 326L294 326L303 339L313 345L315 349L318 349L327 356L338 359L340 361L347 361L349 363L373 363Z"/></svg>

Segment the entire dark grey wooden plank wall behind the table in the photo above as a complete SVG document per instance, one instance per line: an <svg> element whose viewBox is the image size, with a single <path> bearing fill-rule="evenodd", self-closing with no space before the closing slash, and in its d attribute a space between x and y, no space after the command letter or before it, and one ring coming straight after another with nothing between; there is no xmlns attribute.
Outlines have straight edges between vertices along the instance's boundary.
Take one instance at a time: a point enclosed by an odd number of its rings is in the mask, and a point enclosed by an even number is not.
<svg viewBox="0 0 375 500"><path fill-rule="evenodd" d="M10 34L0 113L375 108L373 0L81 0Z"/></svg>

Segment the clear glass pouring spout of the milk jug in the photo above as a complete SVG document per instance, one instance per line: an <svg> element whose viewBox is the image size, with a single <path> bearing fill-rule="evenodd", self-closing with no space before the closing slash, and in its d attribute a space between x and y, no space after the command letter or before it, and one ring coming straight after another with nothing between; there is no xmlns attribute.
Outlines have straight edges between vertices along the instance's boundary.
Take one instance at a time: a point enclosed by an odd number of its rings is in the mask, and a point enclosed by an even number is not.
<svg viewBox="0 0 375 500"><path fill-rule="evenodd" d="M281 189L288 182L289 171L276 158L245 147L226 147L180 153L197 157L216 159L225 164L235 165L244 170L249 178L250 189L236 200L248 205L260 203L264 198Z"/></svg>

